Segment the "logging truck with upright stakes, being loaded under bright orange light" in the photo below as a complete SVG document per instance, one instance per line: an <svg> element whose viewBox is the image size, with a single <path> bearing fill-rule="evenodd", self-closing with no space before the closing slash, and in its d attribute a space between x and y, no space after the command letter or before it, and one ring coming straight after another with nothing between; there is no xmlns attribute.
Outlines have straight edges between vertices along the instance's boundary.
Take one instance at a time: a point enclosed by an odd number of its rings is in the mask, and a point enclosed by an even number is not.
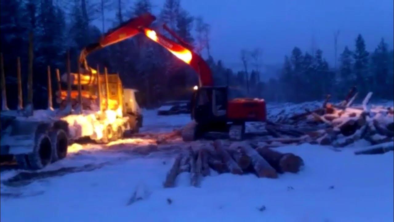
<svg viewBox="0 0 394 222"><path fill-rule="evenodd" d="M18 59L19 61L19 59ZM17 63L18 110L7 107L3 57L1 55L1 160L15 158L24 169L42 169L65 158L68 145L75 140L90 137L97 143L108 143L123 137L125 131L138 132L142 126L141 110L136 102L137 90L123 88L117 73L100 75L99 69L92 82L80 71L65 73L67 90L61 90L59 71L56 101L59 109L52 108L52 87L48 67L48 109L33 110L32 96L26 107L22 102L20 62ZM69 62L68 62L69 64ZM32 70L32 69L31 69ZM69 70L69 69L68 69ZM32 75L29 73L28 75ZM76 82L70 81L77 76ZM71 90L71 85L77 90ZM33 94L28 87L28 94Z"/></svg>

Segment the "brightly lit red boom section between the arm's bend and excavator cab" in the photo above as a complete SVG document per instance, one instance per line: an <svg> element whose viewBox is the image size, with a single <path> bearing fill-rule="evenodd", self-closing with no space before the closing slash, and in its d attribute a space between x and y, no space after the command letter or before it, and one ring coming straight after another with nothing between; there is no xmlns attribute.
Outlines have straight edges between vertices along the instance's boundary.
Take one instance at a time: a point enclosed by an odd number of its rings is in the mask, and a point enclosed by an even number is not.
<svg viewBox="0 0 394 222"><path fill-rule="evenodd" d="M175 41L170 40L169 38L158 34L156 31L146 27L142 29L145 36L147 36L149 39L155 41L156 43L159 43L165 49L170 51L173 55L177 56L180 60L182 60L186 64L189 64L191 68L193 68L197 72L199 76L200 86L214 85L212 73L208 64L206 64L205 60L201 58L201 56L193 52L191 47L188 47L188 44L176 43Z"/></svg>

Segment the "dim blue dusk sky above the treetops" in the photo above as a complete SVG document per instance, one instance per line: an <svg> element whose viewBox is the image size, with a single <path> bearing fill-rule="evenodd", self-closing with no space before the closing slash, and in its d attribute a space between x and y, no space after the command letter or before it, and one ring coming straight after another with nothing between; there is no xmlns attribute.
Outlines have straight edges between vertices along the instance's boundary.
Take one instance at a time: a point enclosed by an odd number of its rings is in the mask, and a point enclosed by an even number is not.
<svg viewBox="0 0 394 222"><path fill-rule="evenodd" d="M164 0L152 4L157 15ZM338 56L346 45L354 48L357 34L368 51L382 37L393 46L392 0L181 0L181 6L211 25L212 55L235 70L242 68L241 49L259 47L263 64L281 64L294 46L310 51L312 39L333 64L336 30Z"/></svg>

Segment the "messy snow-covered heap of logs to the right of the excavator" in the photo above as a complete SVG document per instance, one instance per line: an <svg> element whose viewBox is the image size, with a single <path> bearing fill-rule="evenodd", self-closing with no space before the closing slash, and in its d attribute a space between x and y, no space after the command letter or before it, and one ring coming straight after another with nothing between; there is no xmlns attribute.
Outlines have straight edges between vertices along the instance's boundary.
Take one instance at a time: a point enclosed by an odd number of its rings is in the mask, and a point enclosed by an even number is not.
<svg viewBox="0 0 394 222"><path fill-rule="evenodd" d="M353 94L352 94L353 93ZM357 93L351 90L341 103L329 103L329 96L322 107L295 115L280 121L267 122L266 131L270 139L258 144L278 147L284 144L311 143L345 147L359 139L372 145L393 141L393 107L368 106L372 92L368 93L362 105L354 106Z"/></svg>

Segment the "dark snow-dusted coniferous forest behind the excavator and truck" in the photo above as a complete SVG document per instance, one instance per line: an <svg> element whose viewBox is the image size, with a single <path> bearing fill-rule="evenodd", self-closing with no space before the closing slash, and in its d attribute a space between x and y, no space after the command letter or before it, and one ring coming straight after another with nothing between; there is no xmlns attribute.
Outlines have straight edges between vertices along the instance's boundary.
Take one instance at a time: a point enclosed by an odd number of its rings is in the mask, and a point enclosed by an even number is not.
<svg viewBox="0 0 394 222"><path fill-rule="evenodd" d="M153 7L150 0L1 0L0 3L1 52L8 105L12 109L17 106L18 56L26 97L29 33L33 34L33 101L36 108L45 108L48 65L64 73L69 51L71 70L76 70L83 47L99 40L108 28L152 12ZM383 38L374 51L367 51L362 34L355 36L353 45L338 49L335 64L329 64L320 49L305 51L294 47L284 55L283 66L277 70L276 77L262 81L264 71L256 62L261 51L240 52L243 71L226 68L220 58L210 54L214 47L210 45L210 25L202 17L191 15L182 8L180 0L166 0L158 7L160 13L155 15L158 19L154 28L160 30L160 24L166 23L193 45L194 50L206 58L216 85L229 85L235 96L256 96L267 102L322 100L327 94L341 99L350 87L356 86L360 94L372 91L374 98L393 99L394 54L391 42ZM115 17L110 17L110 13L115 13ZM100 21L100 25L93 21ZM106 27L108 21L111 27ZM110 73L119 73L125 87L137 88L144 107L156 107L166 100L188 100L198 81L186 64L143 36L106 47L87 59L92 67L99 65L107 67ZM54 71L52 75L55 79ZM56 81L52 81L52 85L57 90Z"/></svg>

